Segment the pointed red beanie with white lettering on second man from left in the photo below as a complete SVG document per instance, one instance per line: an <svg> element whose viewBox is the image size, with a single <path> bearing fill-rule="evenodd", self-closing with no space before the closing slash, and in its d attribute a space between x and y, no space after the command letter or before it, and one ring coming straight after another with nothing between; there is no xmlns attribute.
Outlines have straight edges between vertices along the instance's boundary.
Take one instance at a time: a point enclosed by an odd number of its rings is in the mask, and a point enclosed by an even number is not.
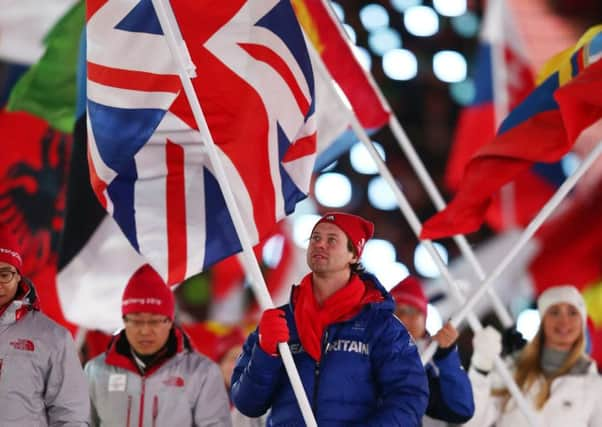
<svg viewBox="0 0 602 427"><path fill-rule="evenodd" d="M145 264L130 278L121 299L121 314L154 313L174 318L174 297L159 273Z"/></svg>

